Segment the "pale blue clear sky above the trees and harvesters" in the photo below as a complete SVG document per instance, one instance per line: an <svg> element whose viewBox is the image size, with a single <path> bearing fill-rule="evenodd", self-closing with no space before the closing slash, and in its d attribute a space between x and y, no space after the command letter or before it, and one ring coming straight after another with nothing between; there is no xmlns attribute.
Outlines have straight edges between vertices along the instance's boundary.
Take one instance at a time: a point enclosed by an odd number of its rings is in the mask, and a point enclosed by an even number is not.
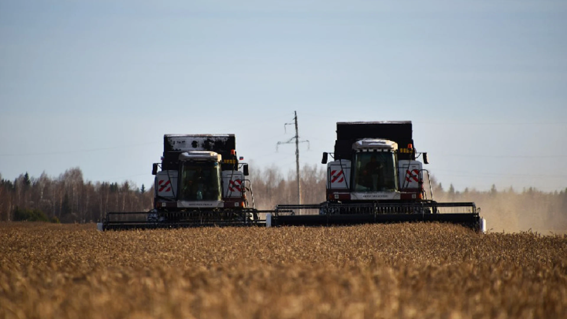
<svg viewBox="0 0 567 319"><path fill-rule="evenodd" d="M235 133L257 167L335 123L412 120L458 190L567 187L565 1L0 2L0 174L153 182L164 133Z"/></svg>

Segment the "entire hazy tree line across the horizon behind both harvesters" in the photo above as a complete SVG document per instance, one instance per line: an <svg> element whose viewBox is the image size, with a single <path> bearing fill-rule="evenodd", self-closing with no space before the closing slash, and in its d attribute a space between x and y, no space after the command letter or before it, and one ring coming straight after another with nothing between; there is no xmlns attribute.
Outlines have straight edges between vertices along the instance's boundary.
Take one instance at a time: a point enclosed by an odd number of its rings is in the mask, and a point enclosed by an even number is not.
<svg viewBox="0 0 567 319"><path fill-rule="evenodd" d="M301 169L302 203L325 200L327 170L323 165L304 165ZM272 209L276 204L295 204L297 181L295 171L286 174L275 165L250 170L252 194L249 202L259 209ZM480 215L494 231L567 230L567 188L543 192L535 188L521 191L509 187L488 191L466 188L446 189L431 178L433 199L437 202L475 202ZM429 194L429 187L426 187ZM14 181L0 175L0 220L43 220L62 223L100 221L106 212L149 211L153 207L153 186L140 188L132 182L109 183L85 181L79 167L58 177L45 173L39 178L21 174Z"/></svg>

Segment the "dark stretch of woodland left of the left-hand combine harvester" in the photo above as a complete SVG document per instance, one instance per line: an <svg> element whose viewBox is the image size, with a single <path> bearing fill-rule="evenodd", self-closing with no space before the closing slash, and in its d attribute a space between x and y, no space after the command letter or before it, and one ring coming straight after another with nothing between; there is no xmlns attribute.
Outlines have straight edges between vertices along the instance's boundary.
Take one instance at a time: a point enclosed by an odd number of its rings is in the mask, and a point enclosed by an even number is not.
<svg viewBox="0 0 567 319"><path fill-rule="evenodd" d="M0 175L0 220L50 220L62 223L100 221L106 212L147 211L153 189L119 183L84 181L79 167L56 178L20 174L14 181ZM31 216L30 216L31 215ZM29 217L29 218L26 218Z"/></svg>

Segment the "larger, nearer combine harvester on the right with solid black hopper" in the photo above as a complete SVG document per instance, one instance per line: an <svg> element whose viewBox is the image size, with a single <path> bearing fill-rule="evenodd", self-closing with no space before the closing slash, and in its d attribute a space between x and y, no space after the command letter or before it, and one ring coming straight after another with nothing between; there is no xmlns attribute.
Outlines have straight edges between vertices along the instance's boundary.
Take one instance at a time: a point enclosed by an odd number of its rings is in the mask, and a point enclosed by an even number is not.
<svg viewBox="0 0 567 319"><path fill-rule="evenodd" d="M266 226L327 226L368 223L439 222L485 232L475 203L438 203L424 188L423 163L411 121L337 123L334 161L327 164L327 201L277 205ZM429 178L428 178L429 180ZM428 196L429 191L429 196Z"/></svg>

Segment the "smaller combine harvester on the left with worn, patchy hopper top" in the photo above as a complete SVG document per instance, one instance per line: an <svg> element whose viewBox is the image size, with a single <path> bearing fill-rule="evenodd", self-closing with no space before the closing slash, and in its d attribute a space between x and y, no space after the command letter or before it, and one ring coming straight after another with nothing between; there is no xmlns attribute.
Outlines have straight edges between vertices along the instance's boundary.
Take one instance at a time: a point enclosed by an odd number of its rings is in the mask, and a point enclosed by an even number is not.
<svg viewBox="0 0 567 319"><path fill-rule="evenodd" d="M154 209L109 212L99 229L260 223L234 135L164 135L163 145L162 162L152 171Z"/></svg>

